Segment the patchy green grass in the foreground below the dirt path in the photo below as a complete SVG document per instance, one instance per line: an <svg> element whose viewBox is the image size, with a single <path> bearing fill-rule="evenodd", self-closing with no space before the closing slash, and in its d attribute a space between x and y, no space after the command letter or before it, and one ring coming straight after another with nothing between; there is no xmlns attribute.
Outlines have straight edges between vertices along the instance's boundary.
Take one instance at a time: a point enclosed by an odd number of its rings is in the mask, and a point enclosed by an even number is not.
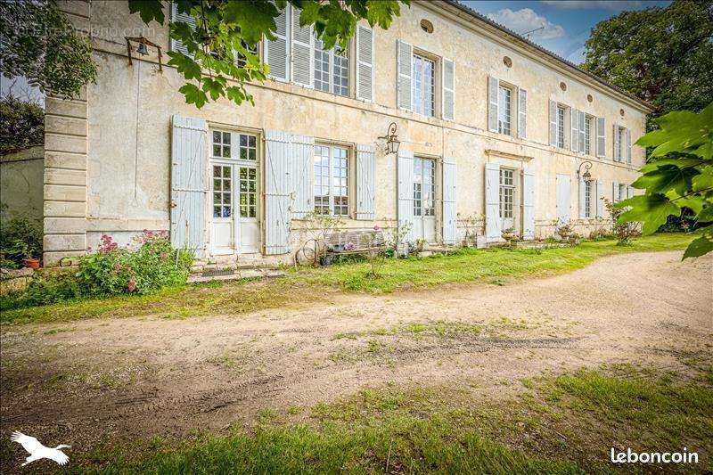
<svg viewBox="0 0 713 475"><path fill-rule="evenodd" d="M700 463L645 470L705 472L713 468L713 373L699 366L693 374L684 380L628 365L581 370L522 381L504 401L467 385L365 389L332 404L266 411L257 427L225 437L103 446L77 455L73 469L586 473L620 468L609 463L612 446L642 452L686 446Z"/></svg>

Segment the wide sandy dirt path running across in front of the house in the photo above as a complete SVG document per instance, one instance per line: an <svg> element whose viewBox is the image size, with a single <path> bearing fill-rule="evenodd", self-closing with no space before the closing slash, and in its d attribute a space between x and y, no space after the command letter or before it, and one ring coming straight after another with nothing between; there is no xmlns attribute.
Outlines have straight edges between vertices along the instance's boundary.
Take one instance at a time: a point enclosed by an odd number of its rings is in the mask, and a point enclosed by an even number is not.
<svg viewBox="0 0 713 475"><path fill-rule="evenodd" d="M571 274L184 320L4 327L2 433L181 436L366 385L458 381L489 393L600 364L713 361L713 258L602 258Z"/></svg>

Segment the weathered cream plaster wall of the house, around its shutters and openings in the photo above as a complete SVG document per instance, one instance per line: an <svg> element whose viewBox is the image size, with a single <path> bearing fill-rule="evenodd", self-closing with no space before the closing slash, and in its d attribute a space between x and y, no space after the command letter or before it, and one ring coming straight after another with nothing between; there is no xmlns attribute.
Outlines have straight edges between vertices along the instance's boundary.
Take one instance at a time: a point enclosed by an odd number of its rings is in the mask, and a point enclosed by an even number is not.
<svg viewBox="0 0 713 475"><path fill-rule="evenodd" d="M419 23L424 18L433 23L432 34L421 29ZM614 122L630 128L633 140L643 133L643 110L635 102L581 73L568 70L542 53L517 47L516 41L500 33L465 22L438 2L415 2L410 9L405 9L391 29L375 31L373 103L266 81L263 85L248 86L255 98L255 107L249 104L238 107L232 102L220 101L207 104L199 111L186 104L183 95L177 92L183 80L176 70L165 65L162 72L158 70L153 51L146 61L135 59L133 66L128 64L124 36L143 35L167 51L165 29L155 24L148 28L143 26L137 15L128 14L126 2L94 0L91 31L99 76L86 92L86 197L79 197L77 201L82 205L86 202L86 215L81 220L86 227L66 228L76 236L88 236L85 245L94 245L102 233L119 235L127 241L132 233L144 228L168 230L170 118L173 114L201 117L212 127L240 127L258 134L268 129L284 130L312 135L316 140L353 144L377 142L376 137L383 135L393 120L397 122L402 147L430 157L455 158L457 210L462 220L479 217L484 212L484 164L488 160L534 171L538 233L550 232L548 226L556 219L557 173L571 176L571 215L578 224L575 171L582 160L594 162L591 170L594 179L601 179L610 189L612 181L633 182L637 176L635 170L644 160L643 150L635 147L631 166L612 161L611 125ZM396 109L397 39L455 61L454 121ZM512 68L504 66L504 55L512 58ZM527 139L488 132L488 75L528 90ZM567 84L566 92L561 91L561 81ZM354 84L353 73L351 83ZM592 94L593 102L587 102L587 94ZM549 99L607 119L606 159L584 157L581 153L548 145ZM624 111L623 117L619 110ZM81 116L81 111L72 113L75 114L72 117ZM78 127L74 138L81 140L82 122L72 125ZM83 151L70 152L78 160L76 168L85 169L78 163ZM378 155L376 209L382 224L396 218L396 184L396 158ZM352 221L349 225L371 226L364 221Z"/></svg>

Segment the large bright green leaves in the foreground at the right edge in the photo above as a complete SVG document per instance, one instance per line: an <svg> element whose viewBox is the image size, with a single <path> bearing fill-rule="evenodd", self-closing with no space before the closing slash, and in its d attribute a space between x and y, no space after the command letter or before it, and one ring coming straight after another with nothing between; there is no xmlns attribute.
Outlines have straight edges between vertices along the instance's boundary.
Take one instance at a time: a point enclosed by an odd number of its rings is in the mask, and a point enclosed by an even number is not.
<svg viewBox="0 0 713 475"><path fill-rule="evenodd" d="M636 141L652 147L649 163L634 184L644 194L619 202L627 209L619 223L640 221L643 234L651 234L668 216L692 209L699 223L713 223L713 102L699 113L669 112L654 123L659 128ZM713 250L713 224L685 250L684 258Z"/></svg>

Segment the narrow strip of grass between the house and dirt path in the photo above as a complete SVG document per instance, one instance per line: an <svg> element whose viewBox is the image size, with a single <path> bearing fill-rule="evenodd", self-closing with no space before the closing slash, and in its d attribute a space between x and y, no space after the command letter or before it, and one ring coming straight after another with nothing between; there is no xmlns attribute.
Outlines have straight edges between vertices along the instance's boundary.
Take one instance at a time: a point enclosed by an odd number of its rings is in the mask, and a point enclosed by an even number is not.
<svg viewBox="0 0 713 475"><path fill-rule="evenodd" d="M615 241L582 242L577 247L545 250L463 249L449 256L387 259L381 276L373 278L366 262L325 268L303 267L266 282L237 281L169 288L149 295L83 299L60 304L14 308L3 302L2 323L61 322L80 318L158 315L185 318L198 315L240 315L327 300L335 291L386 293L442 283L500 283L502 277L528 277L568 272L595 258L622 252L684 250L695 235L657 234L629 246Z"/></svg>

